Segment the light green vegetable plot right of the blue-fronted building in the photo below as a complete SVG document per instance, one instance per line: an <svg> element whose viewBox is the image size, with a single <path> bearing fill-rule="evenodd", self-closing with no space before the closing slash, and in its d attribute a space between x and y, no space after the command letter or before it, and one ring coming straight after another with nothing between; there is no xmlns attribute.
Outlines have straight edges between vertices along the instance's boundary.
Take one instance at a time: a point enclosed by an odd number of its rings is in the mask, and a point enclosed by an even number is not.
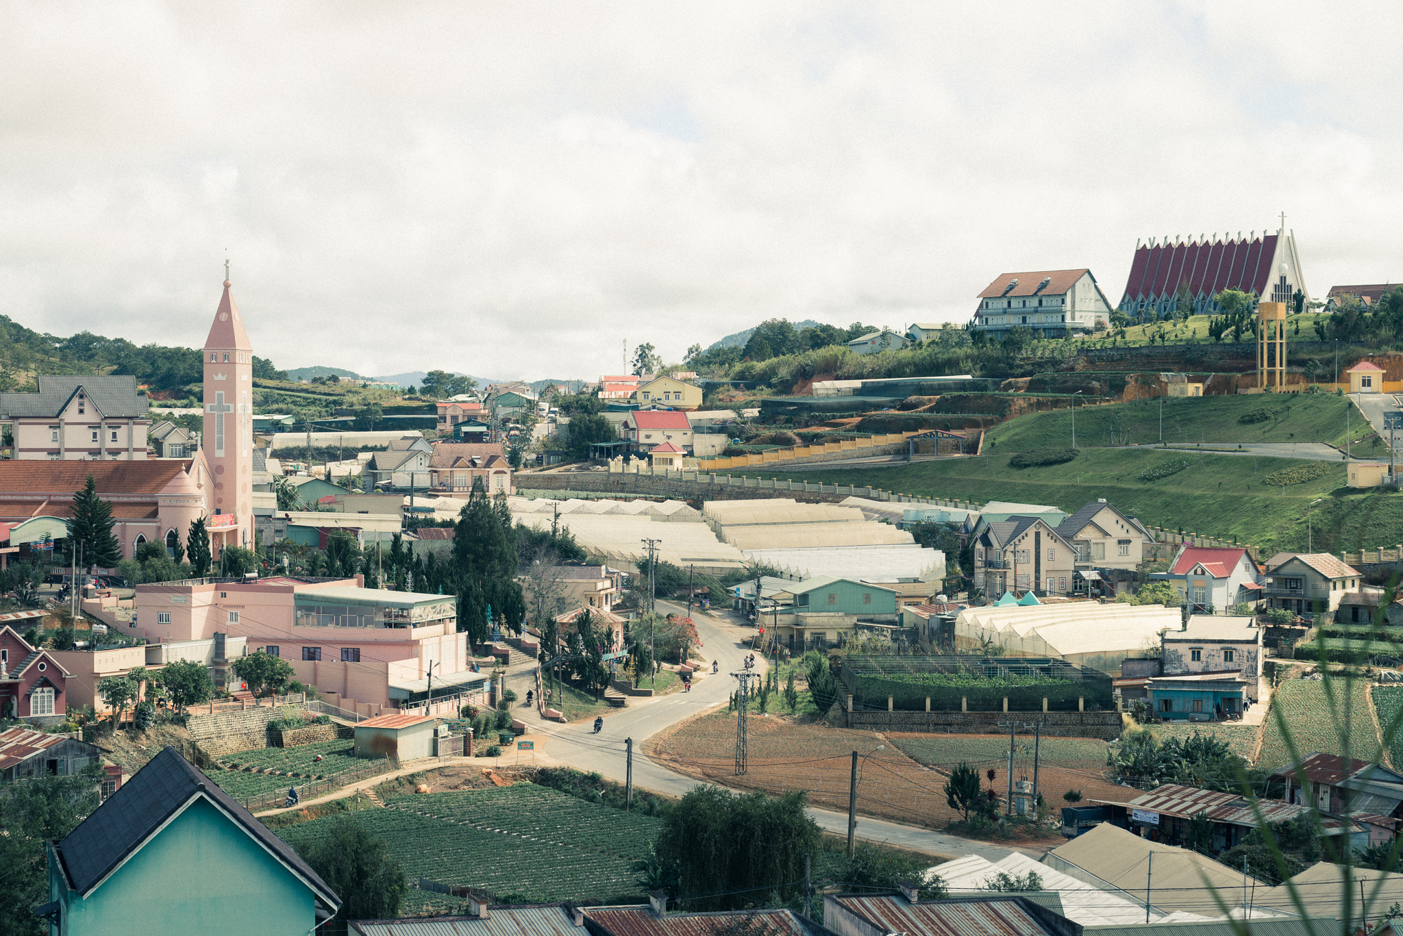
<svg viewBox="0 0 1403 936"><path fill-rule="evenodd" d="M1278 711L1301 756L1319 751L1361 761L1371 759L1378 752L1379 740L1364 695L1365 686L1361 679L1336 679L1333 683L1336 704L1331 709L1323 682L1315 679L1282 682L1271 699L1257 766L1271 770L1291 762L1287 738L1277 726ZM1347 720L1348 734L1345 734Z"/></svg>

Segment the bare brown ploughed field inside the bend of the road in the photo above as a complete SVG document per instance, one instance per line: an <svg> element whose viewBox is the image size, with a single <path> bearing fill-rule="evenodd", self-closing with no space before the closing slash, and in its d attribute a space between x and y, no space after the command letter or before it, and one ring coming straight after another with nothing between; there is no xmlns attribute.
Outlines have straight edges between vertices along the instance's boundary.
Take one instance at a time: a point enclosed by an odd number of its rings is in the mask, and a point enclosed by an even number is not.
<svg viewBox="0 0 1403 936"><path fill-rule="evenodd" d="M898 742L908 737L920 741L920 756L941 766L927 768L904 754ZM974 745L962 742L975 740L982 742L978 745L982 748L999 741L984 735L953 735L948 738L951 756L947 758L940 752L943 747L940 742L944 738L944 735L888 738L873 731L794 724L787 718L752 714L748 718L748 769L737 776L735 714L721 711L696 718L671 734L650 741L647 752L669 769L699 780L767 793L807 790L810 804L846 811L852 752L857 751L859 813L944 828L947 822L961 818L958 810L950 808L946 801L943 789L948 779L946 765L962 759L967 754L975 754L969 749ZM1007 744L1007 738L1002 741ZM1021 744L1023 738L1019 741ZM1089 744L1085 740L1061 741ZM1052 763L1044 758L1040 765L1038 784L1049 805L1059 808L1062 793L1069 789L1080 790L1083 800L1122 798L1120 794L1127 790L1106 780L1096 758L1085 748L1068 754L1075 756L1069 756L1066 763ZM1104 762L1104 756L1101 761ZM1014 770L1019 777L1023 776L1023 762L1024 758L1020 756ZM981 775L988 766L995 766L996 780L992 786L1003 797L1007 786L1006 762L985 756L976 766ZM1031 762L1027 773L1031 779ZM988 780L985 786L991 786Z"/></svg>

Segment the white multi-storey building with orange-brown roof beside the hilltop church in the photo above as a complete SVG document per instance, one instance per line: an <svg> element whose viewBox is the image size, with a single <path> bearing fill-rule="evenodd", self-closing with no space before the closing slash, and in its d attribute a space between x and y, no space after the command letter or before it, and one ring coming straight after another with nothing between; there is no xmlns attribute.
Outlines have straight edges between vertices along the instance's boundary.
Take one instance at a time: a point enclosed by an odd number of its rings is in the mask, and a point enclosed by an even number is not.
<svg viewBox="0 0 1403 936"><path fill-rule="evenodd" d="M1090 269L1000 274L979 293L975 331L1005 333L1016 326L1041 338L1062 338L1108 326L1111 303Z"/></svg>

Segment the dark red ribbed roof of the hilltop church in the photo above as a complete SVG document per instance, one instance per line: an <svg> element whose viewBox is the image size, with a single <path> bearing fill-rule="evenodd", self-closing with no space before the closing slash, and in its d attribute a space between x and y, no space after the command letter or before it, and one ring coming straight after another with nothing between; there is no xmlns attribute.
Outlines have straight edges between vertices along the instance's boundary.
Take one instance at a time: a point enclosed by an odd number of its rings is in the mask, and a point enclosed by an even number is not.
<svg viewBox="0 0 1403 936"><path fill-rule="evenodd" d="M1277 234L1256 240L1188 241L1135 250L1125 300L1160 299L1188 286L1193 296L1215 296L1223 289L1267 295L1277 255Z"/></svg>

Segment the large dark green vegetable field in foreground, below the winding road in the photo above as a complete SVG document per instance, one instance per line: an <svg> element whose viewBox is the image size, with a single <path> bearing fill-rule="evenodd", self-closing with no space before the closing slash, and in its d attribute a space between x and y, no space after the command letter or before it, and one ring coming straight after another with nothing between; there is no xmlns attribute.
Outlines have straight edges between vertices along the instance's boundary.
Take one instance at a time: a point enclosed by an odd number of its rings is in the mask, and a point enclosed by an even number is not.
<svg viewBox="0 0 1403 936"><path fill-rule="evenodd" d="M379 835L410 880L469 884L529 901L641 900L630 870L661 820L593 805L535 784L499 790L403 796L355 821ZM278 835L304 848L341 817L292 825ZM408 907L442 895L410 891ZM422 898L422 900L421 900ZM453 898L448 898L452 901ZM460 902L460 901L459 901Z"/></svg>

